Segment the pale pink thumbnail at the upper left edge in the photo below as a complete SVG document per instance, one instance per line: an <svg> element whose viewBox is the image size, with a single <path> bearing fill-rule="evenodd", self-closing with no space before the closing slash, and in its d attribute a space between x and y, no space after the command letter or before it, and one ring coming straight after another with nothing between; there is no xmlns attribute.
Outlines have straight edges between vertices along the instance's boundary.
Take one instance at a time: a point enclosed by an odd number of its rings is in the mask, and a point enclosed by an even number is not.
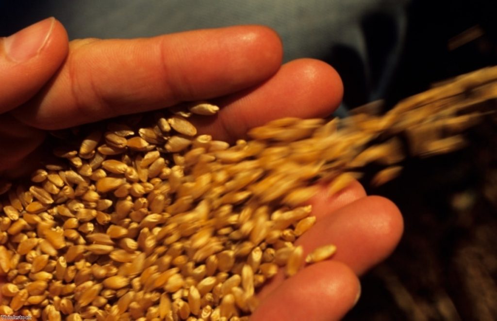
<svg viewBox="0 0 497 321"><path fill-rule="evenodd" d="M55 18L47 18L30 25L3 40L7 56L15 62L25 62L38 55L54 28Z"/></svg>

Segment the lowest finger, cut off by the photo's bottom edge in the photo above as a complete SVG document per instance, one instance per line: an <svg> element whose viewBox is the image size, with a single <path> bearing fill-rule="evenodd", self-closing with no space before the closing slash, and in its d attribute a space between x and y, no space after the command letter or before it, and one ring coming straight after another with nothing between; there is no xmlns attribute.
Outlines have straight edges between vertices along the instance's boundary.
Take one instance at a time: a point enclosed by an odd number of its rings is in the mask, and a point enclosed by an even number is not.
<svg viewBox="0 0 497 321"><path fill-rule="evenodd" d="M265 296L251 320L339 320L357 302L356 275L340 262L306 267Z"/></svg>

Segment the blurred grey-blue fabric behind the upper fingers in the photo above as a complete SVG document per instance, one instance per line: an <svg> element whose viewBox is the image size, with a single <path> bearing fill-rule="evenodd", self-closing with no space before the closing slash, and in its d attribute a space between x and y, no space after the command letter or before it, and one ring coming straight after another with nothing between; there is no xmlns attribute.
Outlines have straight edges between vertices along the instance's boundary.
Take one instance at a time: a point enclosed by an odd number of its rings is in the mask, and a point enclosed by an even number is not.
<svg viewBox="0 0 497 321"><path fill-rule="evenodd" d="M345 102L379 99L402 49L409 0L9 0L0 4L0 32L9 34L53 15L70 39L135 38L236 24L275 29L284 61L311 57L337 68L345 82ZM368 22L368 17L373 17ZM387 30L374 34L378 21ZM383 19L383 20L382 20ZM368 32L373 34L368 36ZM372 53L377 39L390 43ZM368 39L373 38L373 40ZM375 40L376 39L376 40ZM381 41L380 41L381 43ZM377 50L378 51L378 50ZM376 57L372 59L372 57ZM379 57L379 58L378 58ZM378 62L381 60L381 62ZM341 66L341 64L344 65ZM342 70L340 70L340 68ZM346 75L344 75L346 74ZM349 80L350 79L350 80ZM360 99L357 97L361 97ZM343 107L342 107L343 108ZM343 110L342 110L342 115Z"/></svg>

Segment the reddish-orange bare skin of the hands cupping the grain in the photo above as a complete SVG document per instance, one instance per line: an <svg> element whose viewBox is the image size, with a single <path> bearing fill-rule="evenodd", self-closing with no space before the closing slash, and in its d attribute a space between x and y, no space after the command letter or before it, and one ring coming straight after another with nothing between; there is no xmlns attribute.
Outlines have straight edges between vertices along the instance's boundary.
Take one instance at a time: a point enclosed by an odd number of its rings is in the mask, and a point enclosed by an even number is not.
<svg viewBox="0 0 497 321"><path fill-rule="evenodd" d="M12 61L0 39L0 178L36 160L46 130L208 99L221 111L195 120L200 133L233 142L272 119L328 115L343 93L321 61L281 65L281 42L262 26L68 42L62 24L50 23L45 45L24 62ZM323 189L311 203L317 223L297 243L305 254L328 243L338 250L291 278L278 274L258 294L253 320L340 319L359 297L358 277L401 238L398 208L358 182L332 196Z"/></svg>

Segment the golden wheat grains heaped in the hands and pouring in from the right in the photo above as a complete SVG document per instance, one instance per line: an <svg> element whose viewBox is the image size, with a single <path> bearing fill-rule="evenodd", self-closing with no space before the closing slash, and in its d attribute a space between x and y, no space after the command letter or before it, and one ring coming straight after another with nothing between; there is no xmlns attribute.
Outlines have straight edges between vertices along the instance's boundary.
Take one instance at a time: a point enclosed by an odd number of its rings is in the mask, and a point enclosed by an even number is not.
<svg viewBox="0 0 497 321"><path fill-rule="evenodd" d="M333 255L332 244L307 258L294 245L316 221L302 204L317 181L334 193L370 162L386 166L374 183L395 177L401 134L413 155L462 146L458 133L480 113L458 115L475 99L449 96L414 96L384 116L279 119L234 146L188 121L214 115L208 103L59 133L63 161L36 170L29 187L0 183L0 314L246 320L280 267L291 276Z"/></svg>

